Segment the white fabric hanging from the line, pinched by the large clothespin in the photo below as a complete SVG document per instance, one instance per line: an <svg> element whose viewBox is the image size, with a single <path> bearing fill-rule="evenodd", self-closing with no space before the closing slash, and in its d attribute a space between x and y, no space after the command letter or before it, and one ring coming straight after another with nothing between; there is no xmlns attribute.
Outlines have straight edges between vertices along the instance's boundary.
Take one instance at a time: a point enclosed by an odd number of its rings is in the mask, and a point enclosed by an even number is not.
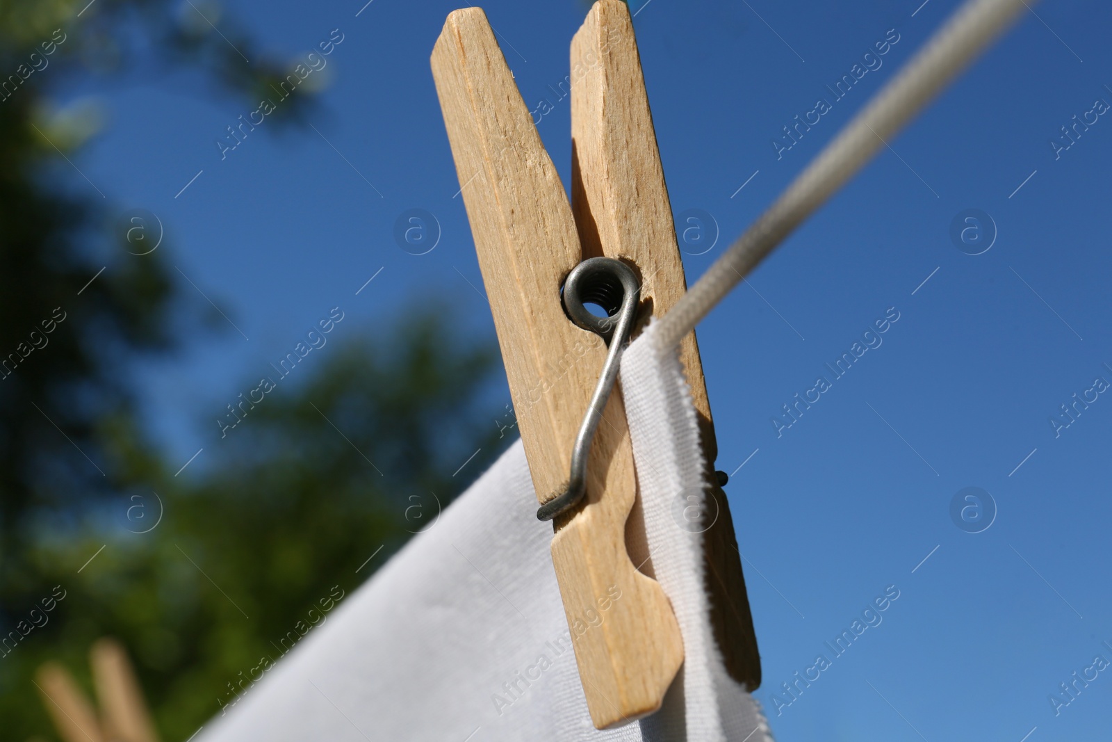
<svg viewBox="0 0 1112 742"><path fill-rule="evenodd" d="M673 518L703 463L679 363L661 357L652 333L626 352L622 385L648 545L684 639L684 665L658 713L592 726L552 526L536 520L517 442L197 741L771 741L713 641L702 536Z"/></svg>

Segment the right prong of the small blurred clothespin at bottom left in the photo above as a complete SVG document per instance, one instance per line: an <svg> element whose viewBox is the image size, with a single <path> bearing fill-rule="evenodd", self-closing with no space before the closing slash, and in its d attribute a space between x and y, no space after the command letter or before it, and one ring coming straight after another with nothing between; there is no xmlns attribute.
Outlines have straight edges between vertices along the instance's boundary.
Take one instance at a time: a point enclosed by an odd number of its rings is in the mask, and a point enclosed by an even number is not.
<svg viewBox="0 0 1112 742"><path fill-rule="evenodd" d="M119 642L100 639L89 652L105 735L113 742L158 742L135 671Z"/></svg>

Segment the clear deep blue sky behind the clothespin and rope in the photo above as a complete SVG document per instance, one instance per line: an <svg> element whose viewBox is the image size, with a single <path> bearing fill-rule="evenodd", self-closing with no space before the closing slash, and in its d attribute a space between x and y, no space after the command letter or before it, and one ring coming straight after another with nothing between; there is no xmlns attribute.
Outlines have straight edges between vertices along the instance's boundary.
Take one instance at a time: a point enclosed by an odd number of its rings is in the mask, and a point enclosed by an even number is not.
<svg viewBox="0 0 1112 742"><path fill-rule="evenodd" d="M689 280L956 7L920 2L632 4L673 210L711 215L718 231L685 256ZM59 93L101 97L108 123L75 162L110 209L159 216L173 264L242 333L198 335L137 374L175 461L218 455L212 418L331 307L350 318L334 339L437 297L460 332L494 339L428 66L456 6L361 6L225 8L290 59L334 29L344 40L315 128L264 123L224 160L216 139L250 109L188 76ZM553 105L538 130L567 184L568 105L548 86L568 73L586 6L484 7L526 102ZM781 740L1041 742L1096 739L1112 722L1112 672L1058 715L1048 700L1095 655L1112 661L1100 577L1112 395L1094 385L1112 382L1112 117L1094 111L1112 102L1112 10L1032 8L698 328L764 660L756 695ZM893 38L833 100L826 86ZM831 109L777 152L782 127L818 98ZM1064 149L1073 116L1095 122ZM394 239L415 208L441 231L419 256ZM969 209L995 237L979 255L951 237ZM898 319L882 343L832 378L825 364L886 313ZM818 376L831 388L777 431L782 405ZM508 400L499 384L492 425ZM1075 393L1095 400L1055 431L1051 416ZM951 517L965 487L994 503L980 533ZM834 659L824 642L890 585L900 597L883 622ZM772 694L817 654L831 666L777 716Z"/></svg>

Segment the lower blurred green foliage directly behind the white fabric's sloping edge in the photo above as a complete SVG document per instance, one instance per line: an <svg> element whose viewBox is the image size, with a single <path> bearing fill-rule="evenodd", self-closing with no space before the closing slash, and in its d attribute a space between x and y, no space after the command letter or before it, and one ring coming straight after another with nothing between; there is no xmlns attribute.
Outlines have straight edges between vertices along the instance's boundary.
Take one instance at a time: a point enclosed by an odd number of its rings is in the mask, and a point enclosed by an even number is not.
<svg viewBox="0 0 1112 742"><path fill-rule="evenodd" d="M314 376L267 395L212 446L193 482L152 458L126 418L108 426L135 486L64 540L56 530L37 545L39 592L60 584L67 596L0 660L0 718L11 722L0 739L49 729L34 669L48 659L83 667L101 635L128 647L163 734L188 738L242 692L260 657L281 656L299 621L327 621L321 600L350 593L435 518L430 493L441 505L457 494L453 472L471 446L486 454L473 473L497 453L497 428L473 402L496 356L454 347L436 315L329 352ZM129 507L142 517L128 522ZM149 533L126 530L160 513Z"/></svg>

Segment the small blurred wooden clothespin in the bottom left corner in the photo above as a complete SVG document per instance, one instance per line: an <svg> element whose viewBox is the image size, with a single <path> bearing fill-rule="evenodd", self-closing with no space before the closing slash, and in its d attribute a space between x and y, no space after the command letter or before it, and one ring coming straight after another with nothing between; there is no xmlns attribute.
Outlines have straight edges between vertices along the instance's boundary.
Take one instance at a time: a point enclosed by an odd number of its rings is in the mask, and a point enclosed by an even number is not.
<svg viewBox="0 0 1112 742"><path fill-rule="evenodd" d="M66 667L48 662L39 667L37 685L66 742L158 742L158 734L123 647L98 640L89 651L100 713Z"/></svg>

